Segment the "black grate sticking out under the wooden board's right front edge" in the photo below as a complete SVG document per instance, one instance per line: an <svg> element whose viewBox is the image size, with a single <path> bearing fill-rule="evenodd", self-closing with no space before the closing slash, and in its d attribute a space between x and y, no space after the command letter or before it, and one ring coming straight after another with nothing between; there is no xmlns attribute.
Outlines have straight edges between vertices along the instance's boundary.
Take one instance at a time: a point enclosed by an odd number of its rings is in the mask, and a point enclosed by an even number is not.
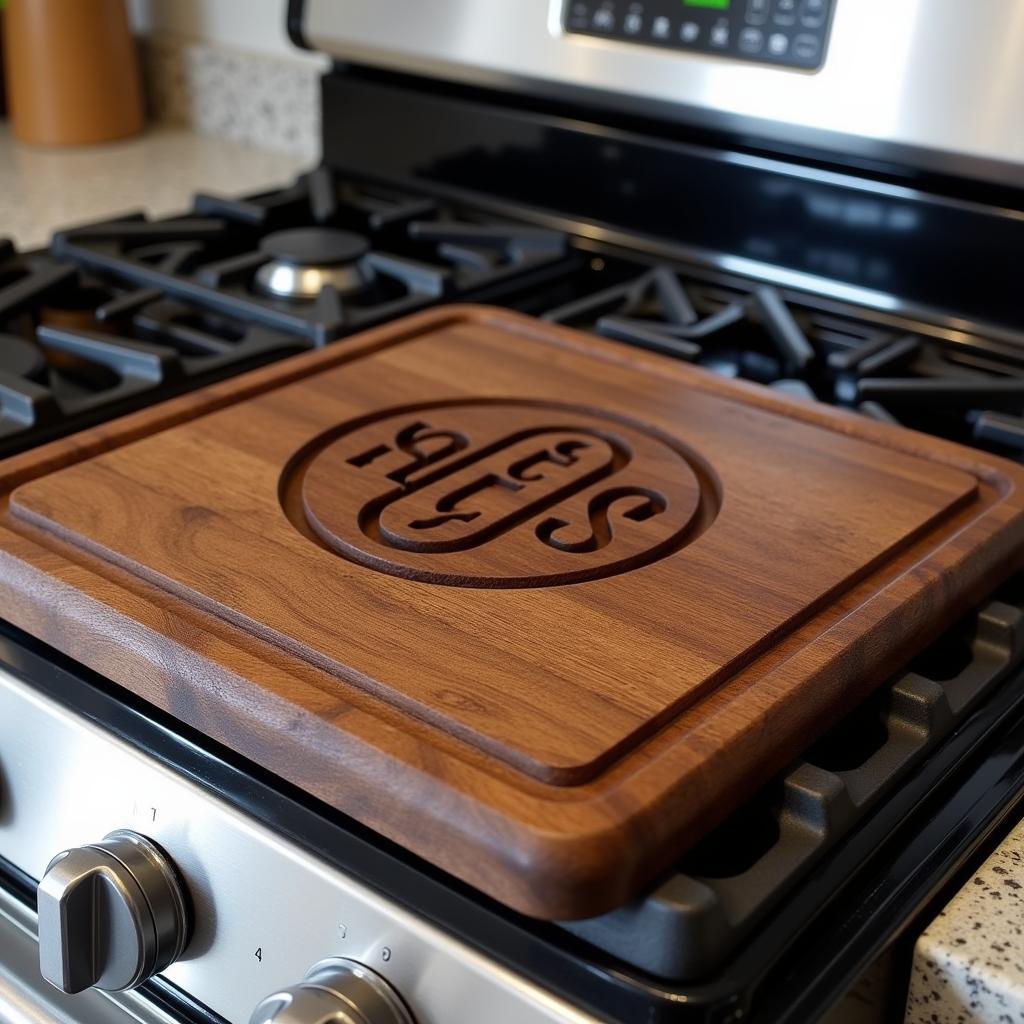
<svg viewBox="0 0 1024 1024"><path fill-rule="evenodd" d="M949 630L646 896L562 927L650 974L687 982L712 975L1020 666L1021 586L1015 578ZM777 941L770 930L769 941Z"/></svg>

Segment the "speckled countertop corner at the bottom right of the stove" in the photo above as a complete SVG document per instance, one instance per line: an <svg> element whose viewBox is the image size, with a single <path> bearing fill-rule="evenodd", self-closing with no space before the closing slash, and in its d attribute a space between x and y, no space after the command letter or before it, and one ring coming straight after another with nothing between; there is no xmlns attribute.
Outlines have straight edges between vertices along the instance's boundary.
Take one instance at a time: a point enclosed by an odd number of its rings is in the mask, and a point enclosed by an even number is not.
<svg viewBox="0 0 1024 1024"><path fill-rule="evenodd" d="M1024 1021L1024 822L918 940L906 1024Z"/></svg>

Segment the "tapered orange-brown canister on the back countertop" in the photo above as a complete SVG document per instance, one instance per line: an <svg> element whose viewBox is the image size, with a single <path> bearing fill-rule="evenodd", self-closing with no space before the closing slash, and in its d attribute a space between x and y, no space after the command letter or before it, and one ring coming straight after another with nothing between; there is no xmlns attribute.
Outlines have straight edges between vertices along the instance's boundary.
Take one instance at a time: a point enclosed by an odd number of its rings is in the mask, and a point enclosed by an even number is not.
<svg viewBox="0 0 1024 1024"><path fill-rule="evenodd" d="M141 129L124 0L9 0L4 52L11 126L23 141L101 142Z"/></svg>

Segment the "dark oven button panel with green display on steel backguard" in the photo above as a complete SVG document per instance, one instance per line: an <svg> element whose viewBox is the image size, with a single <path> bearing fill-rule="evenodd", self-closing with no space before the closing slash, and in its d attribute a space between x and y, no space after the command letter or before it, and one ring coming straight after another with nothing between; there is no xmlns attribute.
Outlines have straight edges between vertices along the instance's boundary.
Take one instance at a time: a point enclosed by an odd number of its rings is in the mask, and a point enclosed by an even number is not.
<svg viewBox="0 0 1024 1024"><path fill-rule="evenodd" d="M836 0L565 0L568 33L815 71Z"/></svg>

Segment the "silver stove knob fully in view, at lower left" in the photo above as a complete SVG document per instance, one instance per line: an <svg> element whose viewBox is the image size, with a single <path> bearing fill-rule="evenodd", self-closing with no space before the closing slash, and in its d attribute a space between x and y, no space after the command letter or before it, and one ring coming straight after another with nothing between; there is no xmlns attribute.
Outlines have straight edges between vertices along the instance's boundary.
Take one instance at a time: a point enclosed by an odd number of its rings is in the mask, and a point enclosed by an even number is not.
<svg viewBox="0 0 1024 1024"><path fill-rule="evenodd" d="M65 992L136 988L184 951L188 898L152 840L111 833L65 850L39 883L39 969Z"/></svg>

